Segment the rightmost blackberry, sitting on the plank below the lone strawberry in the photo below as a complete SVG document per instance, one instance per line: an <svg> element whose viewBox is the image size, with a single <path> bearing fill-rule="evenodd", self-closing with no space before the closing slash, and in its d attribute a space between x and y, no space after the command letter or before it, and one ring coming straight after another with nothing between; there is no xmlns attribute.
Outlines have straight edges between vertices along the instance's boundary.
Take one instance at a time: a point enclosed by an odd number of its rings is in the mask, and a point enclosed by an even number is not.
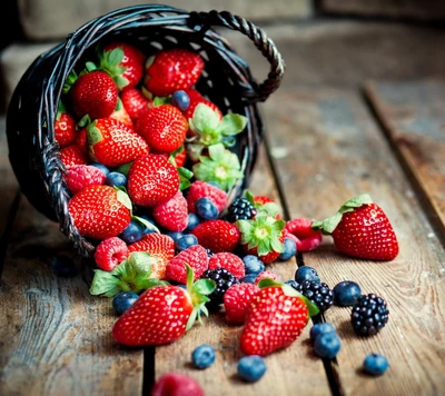
<svg viewBox="0 0 445 396"><path fill-rule="evenodd" d="M350 314L354 330L362 336L377 334L386 325L388 318L389 310L386 301L375 294L358 297Z"/></svg>

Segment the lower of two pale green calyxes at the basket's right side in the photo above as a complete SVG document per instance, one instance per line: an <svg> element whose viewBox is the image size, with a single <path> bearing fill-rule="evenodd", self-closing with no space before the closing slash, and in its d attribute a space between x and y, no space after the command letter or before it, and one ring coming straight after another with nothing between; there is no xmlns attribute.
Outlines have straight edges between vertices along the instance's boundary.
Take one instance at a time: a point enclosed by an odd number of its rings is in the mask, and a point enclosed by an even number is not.
<svg viewBox="0 0 445 396"><path fill-rule="evenodd" d="M237 180L244 178L239 159L222 143L210 146L208 151L209 157L200 156L199 162L192 166L195 178L201 181L216 181L222 190L228 191Z"/></svg>

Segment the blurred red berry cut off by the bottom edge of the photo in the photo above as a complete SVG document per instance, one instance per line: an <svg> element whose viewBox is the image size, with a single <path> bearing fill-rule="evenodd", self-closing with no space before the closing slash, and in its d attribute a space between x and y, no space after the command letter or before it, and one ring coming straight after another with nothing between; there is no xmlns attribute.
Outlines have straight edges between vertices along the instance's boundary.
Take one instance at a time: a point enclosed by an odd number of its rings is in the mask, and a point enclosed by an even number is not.
<svg viewBox="0 0 445 396"><path fill-rule="evenodd" d="M191 377L181 373L164 374L156 382L150 396L205 396L202 388Z"/></svg>

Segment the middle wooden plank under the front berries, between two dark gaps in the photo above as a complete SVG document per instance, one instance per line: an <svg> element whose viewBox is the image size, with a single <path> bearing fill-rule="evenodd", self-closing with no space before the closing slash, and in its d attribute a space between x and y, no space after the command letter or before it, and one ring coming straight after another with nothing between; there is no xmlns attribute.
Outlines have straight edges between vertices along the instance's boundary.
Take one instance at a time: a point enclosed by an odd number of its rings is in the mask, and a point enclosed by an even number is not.
<svg viewBox="0 0 445 396"><path fill-rule="evenodd" d="M249 189L279 201L265 157L261 150ZM286 280L294 276L295 260L277 263L270 268L280 280ZM246 384L236 375L237 362L243 356L239 349L241 326L227 325L224 313L219 313L210 316L204 328L194 326L174 344L156 349L156 378L169 372L187 373L198 380L208 396L295 395L297 389L305 389L307 395L328 395L323 364L308 346L309 328L307 326L290 347L266 357L268 369L258 383ZM190 364L192 350L201 344L210 344L217 350L215 364L205 370L195 369Z"/></svg>

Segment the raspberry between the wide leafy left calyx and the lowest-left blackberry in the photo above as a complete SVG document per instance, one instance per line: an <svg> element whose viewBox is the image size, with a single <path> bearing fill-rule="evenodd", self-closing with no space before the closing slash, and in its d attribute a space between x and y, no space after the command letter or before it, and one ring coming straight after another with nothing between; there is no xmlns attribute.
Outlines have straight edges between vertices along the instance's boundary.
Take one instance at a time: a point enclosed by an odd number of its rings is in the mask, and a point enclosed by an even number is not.
<svg viewBox="0 0 445 396"><path fill-rule="evenodd" d="M186 264L194 270L194 280L199 279L208 268L207 250L200 245L194 245L182 250L167 264L167 277L180 284L186 284Z"/></svg>

